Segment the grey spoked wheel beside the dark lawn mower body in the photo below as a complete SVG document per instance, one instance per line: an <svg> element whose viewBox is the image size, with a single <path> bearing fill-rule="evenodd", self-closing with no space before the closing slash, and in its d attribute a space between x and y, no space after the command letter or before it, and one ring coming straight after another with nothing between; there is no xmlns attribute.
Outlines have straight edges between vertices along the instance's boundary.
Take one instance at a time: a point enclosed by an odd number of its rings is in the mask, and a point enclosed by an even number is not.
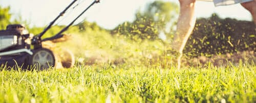
<svg viewBox="0 0 256 103"><path fill-rule="evenodd" d="M29 63L35 70L48 70L55 66L55 57L49 49L40 48L33 51Z"/></svg>

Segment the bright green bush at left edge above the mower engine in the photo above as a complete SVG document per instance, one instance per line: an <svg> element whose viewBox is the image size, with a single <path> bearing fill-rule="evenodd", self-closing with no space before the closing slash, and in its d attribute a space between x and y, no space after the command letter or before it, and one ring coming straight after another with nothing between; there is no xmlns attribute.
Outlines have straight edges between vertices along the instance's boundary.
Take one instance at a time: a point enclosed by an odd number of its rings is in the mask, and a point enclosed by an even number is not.
<svg viewBox="0 0 256 103"><path fill-rule="evenodd" d="M10 23L11 14L9 11L10 7L2 8L0 6L0 30L6 29L6 26Z"/></svg>

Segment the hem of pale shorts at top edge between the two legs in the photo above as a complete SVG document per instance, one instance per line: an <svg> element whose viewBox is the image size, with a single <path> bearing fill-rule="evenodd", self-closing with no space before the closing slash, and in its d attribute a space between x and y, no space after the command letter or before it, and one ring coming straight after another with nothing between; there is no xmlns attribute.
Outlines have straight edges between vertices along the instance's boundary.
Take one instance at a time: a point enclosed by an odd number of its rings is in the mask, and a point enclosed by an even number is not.
<svg viewBox="0 0 256 103"><path fill-rule="evenodd" d="M198 1L207 1L207 2L213 1L215 6L226 6L226 5L232 5L232 4L238 4L238 3L251 2L253 0L198 0Z"/></svg>

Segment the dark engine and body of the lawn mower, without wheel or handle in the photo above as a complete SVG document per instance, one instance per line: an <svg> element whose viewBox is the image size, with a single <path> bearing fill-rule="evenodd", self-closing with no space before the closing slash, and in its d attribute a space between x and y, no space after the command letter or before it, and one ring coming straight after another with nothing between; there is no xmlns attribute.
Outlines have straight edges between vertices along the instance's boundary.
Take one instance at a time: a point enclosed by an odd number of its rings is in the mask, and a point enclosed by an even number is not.
<svg viewBox="0 0 256 103"><path fill-rule="evenodd" d="M0 65L27 66L28 59L33 54L30 45L25 42L29 32L24 25L8 25L6 30L0 30Z"/></svg>

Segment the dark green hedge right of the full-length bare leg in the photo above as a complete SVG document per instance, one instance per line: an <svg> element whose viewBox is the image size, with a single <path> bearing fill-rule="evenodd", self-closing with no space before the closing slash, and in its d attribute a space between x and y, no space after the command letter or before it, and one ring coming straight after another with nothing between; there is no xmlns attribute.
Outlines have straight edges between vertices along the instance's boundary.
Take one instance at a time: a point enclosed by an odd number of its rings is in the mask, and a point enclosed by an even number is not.
<svg viewBox="0 0 256 103"><path fill-rule="evenodd" d="M255 50L255 25L249 21L221 19L213 14L197 20L184 53L190 56L212 56Z"/></svg>

